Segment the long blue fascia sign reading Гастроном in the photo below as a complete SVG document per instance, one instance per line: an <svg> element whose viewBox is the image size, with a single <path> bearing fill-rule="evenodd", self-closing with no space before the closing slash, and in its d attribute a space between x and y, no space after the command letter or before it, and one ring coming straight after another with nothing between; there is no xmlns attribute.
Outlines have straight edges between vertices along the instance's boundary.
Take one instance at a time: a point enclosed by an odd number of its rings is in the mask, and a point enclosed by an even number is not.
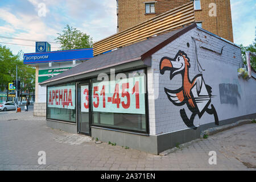
<svg viewBox="0 0 256 182"><path fill-rule="evenodd" d="M24 53L23 64L88 60L93 57L93 49L74 49L67 51Z"/></svg>

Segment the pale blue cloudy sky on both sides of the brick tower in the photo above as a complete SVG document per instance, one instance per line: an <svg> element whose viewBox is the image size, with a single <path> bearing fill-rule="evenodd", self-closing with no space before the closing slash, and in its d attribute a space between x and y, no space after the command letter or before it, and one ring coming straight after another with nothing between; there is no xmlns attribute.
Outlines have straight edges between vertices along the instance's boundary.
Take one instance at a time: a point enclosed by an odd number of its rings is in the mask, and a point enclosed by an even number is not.
<svg viewBox="0 0 256 182"><path fill-rule="evenodd" d="M230 3L234 43L248 46L255 38L256 1L230 0ZM43 11L44 7L46 11ZM20 50L35 52L35 42L1 37L55 42L57 33L66 24L90 35L93 42L97 42L116 33L116 8L115 0L0 0L0 44L9 47L14 54ZM51 51L58 50L60 46L50 44Z"/></svg>

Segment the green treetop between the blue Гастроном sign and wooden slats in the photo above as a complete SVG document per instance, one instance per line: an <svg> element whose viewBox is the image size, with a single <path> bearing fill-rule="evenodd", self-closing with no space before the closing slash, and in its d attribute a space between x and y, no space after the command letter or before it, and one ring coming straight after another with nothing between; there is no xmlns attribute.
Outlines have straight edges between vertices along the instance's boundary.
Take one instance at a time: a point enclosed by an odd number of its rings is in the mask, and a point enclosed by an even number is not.
<svg viewBox="0 0 256 182"><path fill-rule="evenodd" d="M61 50L92 48L92 38L80 30L67 24L62 32L62 34L57 33L59 36L55 39L61 44Z"/></svg>

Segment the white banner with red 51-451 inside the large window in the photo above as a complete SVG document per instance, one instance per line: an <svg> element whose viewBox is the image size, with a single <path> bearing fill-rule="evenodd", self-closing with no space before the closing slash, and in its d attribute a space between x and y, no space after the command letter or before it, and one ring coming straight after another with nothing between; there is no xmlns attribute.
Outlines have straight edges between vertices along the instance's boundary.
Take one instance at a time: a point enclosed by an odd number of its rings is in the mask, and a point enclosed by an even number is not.
<svg viewBox="0 0 256 182"><path fill-rule="evenodd" d="M93 111L145 114L144 86L144 76L93 83Z"/></svg>

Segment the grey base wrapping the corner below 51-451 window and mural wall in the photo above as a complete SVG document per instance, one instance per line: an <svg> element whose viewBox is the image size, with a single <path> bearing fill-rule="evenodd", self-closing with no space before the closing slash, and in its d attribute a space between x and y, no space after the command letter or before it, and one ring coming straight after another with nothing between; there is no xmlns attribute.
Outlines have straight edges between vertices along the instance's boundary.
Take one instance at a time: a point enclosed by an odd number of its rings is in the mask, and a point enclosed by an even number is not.
<svg viewBox="0 0 256 182"><path fill-rule="evenodd" d="M232 119L225 119L219 123L220 126L223 126L237 122L240 119L248 118L256 118L256 113ZM214 123L209 123L207 125L201 125L196 130L185 129L168 134L149 136L92 127L92 137L98 138L102 142L110 141L112 143L117 143L118 146L127 146L129 148L158 155L160 152L176 147L177 145L200 138L201 131L212 127L216 127L216 125L214 125Z"/></svg>

